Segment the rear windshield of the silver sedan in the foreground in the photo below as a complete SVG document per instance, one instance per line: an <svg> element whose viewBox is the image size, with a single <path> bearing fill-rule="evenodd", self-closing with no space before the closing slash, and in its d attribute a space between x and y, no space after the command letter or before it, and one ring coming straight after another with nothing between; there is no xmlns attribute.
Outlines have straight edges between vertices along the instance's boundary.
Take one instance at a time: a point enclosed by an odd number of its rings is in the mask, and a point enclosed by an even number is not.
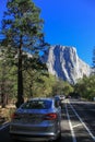
<svg viewBox="0 0 95 142"><path fill-rule="evenodd" d="M51 107L51 100L29 100L25 103L23 109L49 109Z"/></svg>

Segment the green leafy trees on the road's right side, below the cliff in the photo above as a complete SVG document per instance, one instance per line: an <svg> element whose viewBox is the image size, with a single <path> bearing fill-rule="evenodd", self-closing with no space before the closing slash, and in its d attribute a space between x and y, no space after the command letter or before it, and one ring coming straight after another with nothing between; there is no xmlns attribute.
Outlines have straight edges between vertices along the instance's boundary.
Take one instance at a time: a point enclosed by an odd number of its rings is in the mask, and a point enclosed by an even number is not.
<svg viewBox="0 0 95 142"><path fill-rule="evenodd" d="M84 76L74 85L74 93L86 100L94 100L95 97L95 75Z"/></svg>

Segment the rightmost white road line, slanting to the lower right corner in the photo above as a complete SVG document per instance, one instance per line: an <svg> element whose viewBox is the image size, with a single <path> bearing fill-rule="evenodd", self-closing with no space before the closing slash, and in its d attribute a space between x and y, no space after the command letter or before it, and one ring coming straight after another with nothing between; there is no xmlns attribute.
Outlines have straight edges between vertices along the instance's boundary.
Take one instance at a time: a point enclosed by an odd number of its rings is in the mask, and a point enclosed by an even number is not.
<svg viewBox="0 0 95 142"><path fill-rule="evenodd" d="M70 104L72 110L74 111L74 114L76 115L76 117L79 118L79 120L82 122L82 125L84 126L84 128L86 129L86 131L88 132L88 134L92 137L92 139L95 141L95 137L93 135L93 133L91 132L91 130L87 128L87 126L83 122L82 118L79 116L79 114L75 111L75 109L73 108L73 106Z"/></svg>

